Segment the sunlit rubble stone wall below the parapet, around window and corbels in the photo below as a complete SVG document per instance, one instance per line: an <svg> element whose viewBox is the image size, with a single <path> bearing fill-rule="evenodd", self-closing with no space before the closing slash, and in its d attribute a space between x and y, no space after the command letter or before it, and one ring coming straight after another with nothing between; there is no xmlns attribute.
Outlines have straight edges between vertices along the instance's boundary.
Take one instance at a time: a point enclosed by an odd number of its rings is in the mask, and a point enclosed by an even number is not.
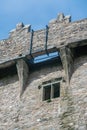
<svg viewBox="0 0 87 130"><path fill-rule="evenodd" d="M61 65L40 67L29 74L28 86L20 98L17 75L0 80L0 130L86 130L87 55L74 60L74 72L67 86L61 81L60 97L42 101L44 81L64 76Z"/></svg>

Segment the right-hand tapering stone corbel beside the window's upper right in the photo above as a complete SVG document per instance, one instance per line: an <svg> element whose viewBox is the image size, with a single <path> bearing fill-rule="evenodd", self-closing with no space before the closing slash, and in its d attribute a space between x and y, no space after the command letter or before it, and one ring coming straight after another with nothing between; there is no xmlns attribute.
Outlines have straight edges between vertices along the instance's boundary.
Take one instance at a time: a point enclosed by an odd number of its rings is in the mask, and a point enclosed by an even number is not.
<svg viewBox="0 0 87 130"><path fill-rule="evenodd" d="M69 85L70 79L73 73L74 56L73 52L69 47L60 48L60 57L65 70L65 79Z"/></svg>

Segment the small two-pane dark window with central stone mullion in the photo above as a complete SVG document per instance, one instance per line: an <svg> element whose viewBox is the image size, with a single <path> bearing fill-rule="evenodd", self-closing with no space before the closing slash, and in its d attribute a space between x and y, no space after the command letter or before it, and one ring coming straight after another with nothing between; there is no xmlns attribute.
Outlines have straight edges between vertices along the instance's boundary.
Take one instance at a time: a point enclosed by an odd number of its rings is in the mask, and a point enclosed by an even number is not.
<svg viewBox="0 0 87 130"><path fill-rule="evenodd" d="M43 101L60 97L60 82L52 82L43 86Z"/></svg>

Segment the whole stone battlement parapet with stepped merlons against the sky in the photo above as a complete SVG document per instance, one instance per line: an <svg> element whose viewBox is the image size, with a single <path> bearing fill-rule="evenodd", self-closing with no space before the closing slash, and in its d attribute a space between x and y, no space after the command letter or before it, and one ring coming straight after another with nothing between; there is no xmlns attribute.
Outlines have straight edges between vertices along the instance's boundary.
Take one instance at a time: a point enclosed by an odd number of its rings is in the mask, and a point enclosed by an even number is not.
<svg viewBox="0 0 87 130"><path fill-rule="evenodd" d="M19 23L6 40L0 41L0 64L30 53L60 48L87 39L87 19L71 22L71 16L59 14L45 29L32 31L31 25Z"/></svg>

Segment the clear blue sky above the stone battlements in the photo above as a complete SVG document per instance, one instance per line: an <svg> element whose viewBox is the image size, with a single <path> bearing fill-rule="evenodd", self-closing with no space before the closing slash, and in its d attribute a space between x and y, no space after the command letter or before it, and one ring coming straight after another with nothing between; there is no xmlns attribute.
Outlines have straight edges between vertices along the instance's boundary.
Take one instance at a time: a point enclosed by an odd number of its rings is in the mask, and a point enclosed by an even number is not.
<svg viewBox="0 0 87 130"><path fill-rule="evenodd" d="M1 0L0 39L6 39L19 22L42 29L60 12L70 14L72 21L87 18L87 0Z"/></svg>

